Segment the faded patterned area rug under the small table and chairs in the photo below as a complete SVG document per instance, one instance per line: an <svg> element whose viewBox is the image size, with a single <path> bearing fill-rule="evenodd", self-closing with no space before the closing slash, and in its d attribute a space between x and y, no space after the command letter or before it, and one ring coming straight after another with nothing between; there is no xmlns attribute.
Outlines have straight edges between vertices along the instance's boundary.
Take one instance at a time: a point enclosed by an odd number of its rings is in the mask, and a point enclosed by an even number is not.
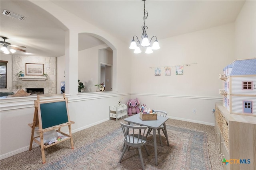
<svg viewBox="0 0 256 170"><path fill-rule="evenodd" d="M163 147L157 135L158 166L155 165L153 135L147 138L146 150L142 155L146 170L211 170L207 134L181 127L166 125L169 144L164 134ZM156 132L157 133L157 132ZM142 169L138 149L126 150L122 162L124 135L121 128L115 129L104 137L74 149L60 158L44 164L42 170L137 170Z"/></svg>

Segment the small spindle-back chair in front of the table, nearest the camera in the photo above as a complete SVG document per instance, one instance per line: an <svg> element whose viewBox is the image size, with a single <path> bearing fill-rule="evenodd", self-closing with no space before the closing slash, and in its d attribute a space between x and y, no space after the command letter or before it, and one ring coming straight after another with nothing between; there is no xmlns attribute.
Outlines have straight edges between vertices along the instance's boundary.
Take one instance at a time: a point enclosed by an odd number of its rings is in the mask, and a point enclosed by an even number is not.
<svg viewBox="0 0 256 170"><path fill-rule="evenodd" d="M146 126L131 126L131 125L126 125L124 123L121 122L121 127L124 133L124 149L122 152L122 155L119 159L119 163L121 162L123 156L124 156L124 152L126 151L127 147L128 150L130 149L130 147L136 147L139 150L139 154L140 154L140 162L142 165L142 169L145 170L145 166L144 166L144 162L143 162L143 158L142 158L142 152L141 152L141 147L144 146L148 156L148 150L146 148L146 138L144 137L146 129L148 127Z"/></svg>

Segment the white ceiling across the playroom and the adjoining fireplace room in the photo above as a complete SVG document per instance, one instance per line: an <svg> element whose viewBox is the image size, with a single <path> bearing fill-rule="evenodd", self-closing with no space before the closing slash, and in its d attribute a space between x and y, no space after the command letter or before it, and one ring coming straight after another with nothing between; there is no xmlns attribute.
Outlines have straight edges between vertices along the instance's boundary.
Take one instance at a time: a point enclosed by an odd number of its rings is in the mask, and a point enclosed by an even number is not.
<svg viewBox="0 0 256 170"><path fill-rule="evenodd" d="M123 42L130 44L132 37L142 34L142 0L52 0L65 10L103 29ZM236 20L245 1L238 0L147 0L147 34L161 39L207 29ZM12 45L27 47L33 56L59 57L64 55L64 31L67 28L29 1L0 0L0 35L8 37ZM9 10L21 16L19 21L2 14ZM3 39L1 39L3 41ZM102 44L89 35L79 35L79 50ZM17 51L18 52L18 51ZM27 55L25 53L16 55ZM2 53L2 51L1 51Z"/></svg>

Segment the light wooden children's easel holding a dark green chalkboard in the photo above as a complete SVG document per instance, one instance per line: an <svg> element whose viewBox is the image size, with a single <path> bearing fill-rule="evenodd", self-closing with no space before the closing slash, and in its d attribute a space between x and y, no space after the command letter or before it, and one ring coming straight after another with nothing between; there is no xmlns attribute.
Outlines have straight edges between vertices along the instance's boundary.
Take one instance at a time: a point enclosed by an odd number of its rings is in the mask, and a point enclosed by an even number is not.
<svg viewBox="0 0 256 170"><path fill-rule="evenodd" d="M31 129L31 139L29 150L32 150L33 141L41 146L42 152L42 162L45 163L45 154L44 149L56 145L60 142L70 139L71 149L74 149L73 138L71 133L71 125L74 124L74 121L70 121L68 113L68 99L63 94L63 98L52 98L52 99L40 99L45 96L57 96L57 95L37 95L37 100L34 101L34 118L33 123L28 125ZM69 135L60 131L61 127L68 126ZM34 137L35 127L38 127L39 136ZM57 141L50 145L44 145L44 132L56 130L57 133L60 133L64 136L64 139Z"/></svg>

